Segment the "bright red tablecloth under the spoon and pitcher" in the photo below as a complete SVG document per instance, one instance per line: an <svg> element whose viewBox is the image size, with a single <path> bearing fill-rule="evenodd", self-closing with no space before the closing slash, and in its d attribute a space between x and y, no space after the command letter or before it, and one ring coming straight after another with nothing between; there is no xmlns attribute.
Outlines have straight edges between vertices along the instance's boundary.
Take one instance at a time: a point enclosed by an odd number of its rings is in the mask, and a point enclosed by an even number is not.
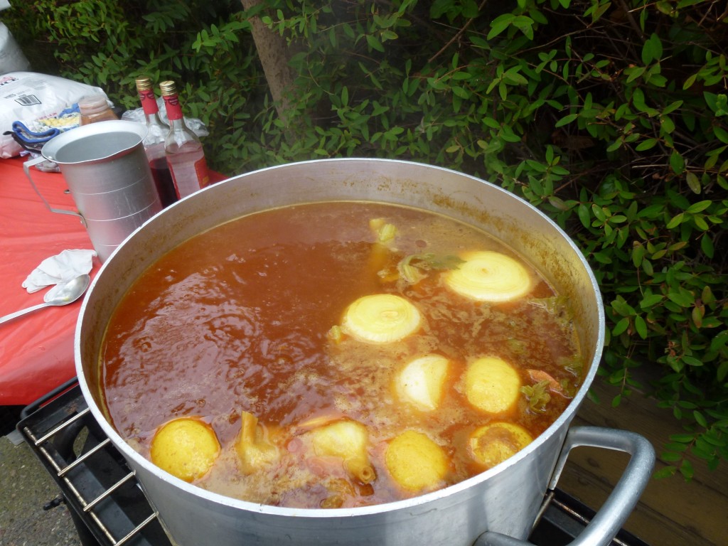
<svg viewBox="0 0 728 546"><path fill-rule="evenodd" d="M60 173L32 169L33 181L54 208L76 210ZM44 288L21 283L41 261L66 249L92 249L76 216L52 213L33 191L23 159L0 159L0 316L43 303ZM93 276L100 267L94 258ZM76 375L74 331L81 300L47 307L0 324L0 405L25 405Z"/></svg>

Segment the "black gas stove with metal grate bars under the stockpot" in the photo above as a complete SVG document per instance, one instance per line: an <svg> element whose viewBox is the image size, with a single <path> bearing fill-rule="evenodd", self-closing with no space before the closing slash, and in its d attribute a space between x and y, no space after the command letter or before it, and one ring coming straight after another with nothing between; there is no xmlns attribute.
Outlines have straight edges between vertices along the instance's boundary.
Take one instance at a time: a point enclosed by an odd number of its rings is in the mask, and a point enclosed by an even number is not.
<svg viewBox="0 0 728 546"><path fill-rule="evenodd" d="M171 546L127 462L90 413L76 379L28 405L17 430L60 488L82 546ZM594 512L558 488L548 491L529 537L566 546ZM611 546L648 546L620 531Z"/></svg>

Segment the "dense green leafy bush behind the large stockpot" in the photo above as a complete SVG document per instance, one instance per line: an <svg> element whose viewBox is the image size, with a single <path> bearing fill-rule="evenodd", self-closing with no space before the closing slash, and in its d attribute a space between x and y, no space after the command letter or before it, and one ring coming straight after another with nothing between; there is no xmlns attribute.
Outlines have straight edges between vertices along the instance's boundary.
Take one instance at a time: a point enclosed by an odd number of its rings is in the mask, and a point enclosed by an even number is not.
<svg viewBox="0 0 728 546"><path fill-rule="evenodd" d="M186 82L186 110L208 124L208 157L229 174L399 157L520 194L595 269L614 403L650 388L684 424L665 439L662 474L690 478L695 456L711 468L728 459L722 4L266 0L256 13L290 44L296 74L288 125L240 5L124 6L33 0L8 24L36 50L47 41L61 74L124 106L135 106L137 74Z"/></svg>

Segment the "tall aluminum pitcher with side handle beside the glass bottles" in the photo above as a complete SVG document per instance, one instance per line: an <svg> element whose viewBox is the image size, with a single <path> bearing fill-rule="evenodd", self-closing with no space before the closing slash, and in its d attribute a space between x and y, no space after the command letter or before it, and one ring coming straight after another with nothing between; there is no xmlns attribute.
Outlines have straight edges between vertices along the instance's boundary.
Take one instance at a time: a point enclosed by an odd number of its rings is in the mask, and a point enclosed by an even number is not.
<svg viewBox="0 0 728 546"><path fill-rule="evenodd" d="M33 189L52 213L81 218L100 261L135 229L162 210L144 153L146 126L108 121L63 132L44 144L41 157L23 164ZM78 212L55 209L41 195L30 167L58 164Z"/></svg>

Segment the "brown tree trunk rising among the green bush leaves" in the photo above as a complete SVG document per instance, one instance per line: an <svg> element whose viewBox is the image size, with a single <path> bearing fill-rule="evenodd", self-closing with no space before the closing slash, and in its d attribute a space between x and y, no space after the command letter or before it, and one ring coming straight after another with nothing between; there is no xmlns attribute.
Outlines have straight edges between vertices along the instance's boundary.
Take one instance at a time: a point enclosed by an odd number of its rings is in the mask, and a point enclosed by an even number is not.
<svg viewBox="0 0 728 546"><path fill-rule="evenodd" d="M258 6L264 0L240 0L243 9L246 11ZM268 82L268 87L276 103L278 117L288 127L288 98L286 90L293 86L293 71L288 67L289 55L291 54L288 44L285 43L280 34L270 31L263 24L261 18L251 17L250 24L253 26L253 41L256 42L258 58L263 65L263 71Z"/></svg>

